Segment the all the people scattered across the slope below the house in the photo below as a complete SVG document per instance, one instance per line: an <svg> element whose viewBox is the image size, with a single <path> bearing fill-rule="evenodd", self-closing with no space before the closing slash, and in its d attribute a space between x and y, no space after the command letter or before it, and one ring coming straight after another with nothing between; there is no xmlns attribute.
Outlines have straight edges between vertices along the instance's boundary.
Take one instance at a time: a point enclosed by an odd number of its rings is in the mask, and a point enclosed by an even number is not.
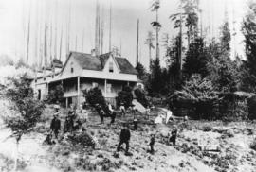
<svg viewBox="0 0 256 172"><path fill-rule="evenodd" d="M110 113L114 112L110 104L108 104L107 108ZM61 120L59 119L59 115L60 115L59 109L60 109L59 107L55 107L53 119L51 120L51 124L50 124L51 132L50 134L47 135L45 140L45 142L47 142L47 144L49 145L55 143L55 141L52 140L53 135L58 140L58 136L61 131ZM120 107L120 109L121 111L125 111L124 106ZM104 112L103 109L100 107L97 111L99 111L99 113ZM82 108L82 106L80 106L80 109L77 111L75 111L73 106L70 106L70 109L64 121L64 133L73 132L79 129L84 130L84 128L82 128L82 125L86 123L87 120L88 120L88 113ZM134 119L134 129L137 129L137 118ZM175 146L175 143L176 143L176 136L177 136L177 127L174 126L174 128L170 130L170 133L168 135L168 142L172 143L173 146ZM131 138L131 131L128 128L128 124L124 123L123 128L121 129L119 134L119 144L117 146L117 151L120 151L121 146L125 144L126 145L125 155L127 156L132 155L129 152L130 138ZM150 149L148 150L148 152L150 152L151 154L155 154L155 134L150 135L149 147Z"/></svg>

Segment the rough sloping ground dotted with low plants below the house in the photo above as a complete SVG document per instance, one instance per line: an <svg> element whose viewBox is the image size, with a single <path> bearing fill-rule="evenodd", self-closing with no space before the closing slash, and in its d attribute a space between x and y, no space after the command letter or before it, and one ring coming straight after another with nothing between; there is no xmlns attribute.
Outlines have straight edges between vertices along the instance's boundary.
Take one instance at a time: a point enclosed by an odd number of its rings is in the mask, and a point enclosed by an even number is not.
<svg viewBox="0 0 256 172"><path fill-rule="evenodd" d="M62 113L65 113L62 110ZM132 114L118 115L100 124L96 112L89 112L86 132L94 134L99 145L96 149L59 142L53 146L43 145L53 114L46 108L35 131L25 135L19 146L19 171L174 171L174 172L255 172L256 151L249 148L255 133L255 123L238 122L223 124L220 121L174 121L168 125L154 125L157 111L147 119L138 115L138 129L131 128L130 152L116 152L121 123L131 123ZM178 127L177 145L166 142L173 125ZM64 126L64 116L62 117ZM155 155L147 153L150 134L155 133ZM0 171L10 171L15 157L14 139L8 138L10 130L0 129ZM124 146L123 146L124 147Z"/></svg>

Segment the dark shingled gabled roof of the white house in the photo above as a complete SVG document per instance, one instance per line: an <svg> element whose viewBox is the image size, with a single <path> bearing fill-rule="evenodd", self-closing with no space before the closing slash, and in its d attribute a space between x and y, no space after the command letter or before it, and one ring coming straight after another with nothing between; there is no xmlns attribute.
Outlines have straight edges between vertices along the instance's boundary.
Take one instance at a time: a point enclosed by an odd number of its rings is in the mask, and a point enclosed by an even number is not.
<svg viewBox="0 0 256 172"><path fill-rule="evenodd" d="M75 60L81 65L82 69L102 71L109 59L111 53L106 53L100 55L99 58L92 56L91 54L85 54L80 52L71 52L69 57L74 57ZM134 74L137 75L137 70L132 66L132 64L125 58L115 57L120 69L120 73L124 74Z"/></svg>

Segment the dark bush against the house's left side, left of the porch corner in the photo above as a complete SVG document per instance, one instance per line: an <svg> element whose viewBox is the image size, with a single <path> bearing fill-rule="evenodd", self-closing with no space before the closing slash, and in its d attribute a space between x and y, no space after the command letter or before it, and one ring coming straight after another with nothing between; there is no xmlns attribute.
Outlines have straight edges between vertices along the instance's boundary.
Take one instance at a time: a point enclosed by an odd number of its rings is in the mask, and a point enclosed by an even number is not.
<svg viewBox="0 0 256 172"><path fill-rule="evenodd" d="M60 84L49 91L47 95L48 103L64 102L64 87Z"/></svg>

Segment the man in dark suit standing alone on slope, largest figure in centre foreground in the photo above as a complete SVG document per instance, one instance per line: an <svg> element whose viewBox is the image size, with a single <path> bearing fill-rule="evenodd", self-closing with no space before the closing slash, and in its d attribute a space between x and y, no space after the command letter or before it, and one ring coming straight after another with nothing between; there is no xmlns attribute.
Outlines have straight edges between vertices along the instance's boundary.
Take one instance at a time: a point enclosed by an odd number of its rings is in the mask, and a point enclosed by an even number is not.
<svg viewBox="0 0 256 172"><path fill-rule="evenodd" d="M125 143L126 149L125 149L125 155L129 154L129 142L130 142L131 132L127 128L127 124L123 124L123 129L121 129L120 135L119 135L119 146L117 148L117 151L120 151L120 146Z"/></svg>

